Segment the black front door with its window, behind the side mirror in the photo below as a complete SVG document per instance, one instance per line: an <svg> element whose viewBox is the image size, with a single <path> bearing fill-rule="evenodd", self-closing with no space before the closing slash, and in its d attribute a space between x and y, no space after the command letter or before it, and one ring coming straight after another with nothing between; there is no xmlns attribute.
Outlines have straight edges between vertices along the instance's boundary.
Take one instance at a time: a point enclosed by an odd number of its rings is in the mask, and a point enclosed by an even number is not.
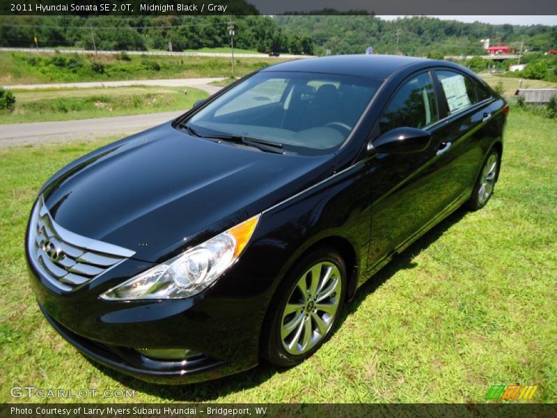
<svg viewBox="0 0 557 418"><path fill-rule="evenodd" d="M444 138L438 95L430 70L408 77L391 96L370 139L395 127L432 133L430 146L411 154L379 154L370 164L372 220L368 270L404 247L444 210L455 186L450 178L451 146Z"/></svg>

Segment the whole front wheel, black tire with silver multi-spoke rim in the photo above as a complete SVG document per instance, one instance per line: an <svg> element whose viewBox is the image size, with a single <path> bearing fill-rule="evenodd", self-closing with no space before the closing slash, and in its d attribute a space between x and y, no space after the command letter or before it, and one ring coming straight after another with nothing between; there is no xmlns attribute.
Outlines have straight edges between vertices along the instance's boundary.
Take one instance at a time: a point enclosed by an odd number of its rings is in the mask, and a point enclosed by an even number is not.
<svg viewBox="0 0 557 418"><path fill-rule="evenodd" d="M276 366L295 366L313 355L338 325L346 288L346 265L337 251L324 247L302 257L269 305L262 357Z"/></svg>

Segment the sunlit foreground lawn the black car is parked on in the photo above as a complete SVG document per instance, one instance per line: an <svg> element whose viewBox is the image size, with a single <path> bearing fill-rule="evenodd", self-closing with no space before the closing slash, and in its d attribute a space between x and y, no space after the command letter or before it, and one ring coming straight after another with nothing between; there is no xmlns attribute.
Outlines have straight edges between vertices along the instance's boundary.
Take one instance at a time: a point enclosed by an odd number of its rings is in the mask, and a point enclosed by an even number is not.
<svg viewBox="0 0 557 418"><path fill-rule="evenodd" d="M0 401L24 401L9 387L33 385L129 387L136 402L460 403L517 382L540 386L533 401L557 401L555 121L512 109L488 205L458 210L368 281L311 359L182 387L97 369L42 318L26 277L40 185L111 140L0 150Z"/></svg>

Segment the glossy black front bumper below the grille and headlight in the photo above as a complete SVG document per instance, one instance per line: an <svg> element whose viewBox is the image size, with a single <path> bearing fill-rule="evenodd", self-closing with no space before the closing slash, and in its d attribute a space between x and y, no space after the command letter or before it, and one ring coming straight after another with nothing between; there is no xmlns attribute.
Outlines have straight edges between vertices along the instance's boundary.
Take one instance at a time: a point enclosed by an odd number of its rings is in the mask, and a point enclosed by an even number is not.
<svg viewBox="0 0 557 418"><path fill-rule="evenodd" d="M242 268L229 270L214 286L186 300L107 302L99 295L115 281L145 270L146 263L127 260L71 294L51 286L29 258L28 263L45 318L81 353L104 366L148 382L178 385L258 364L269 288L254 286ZM204 355L161 361L132 348L187 348Z"/></svg>

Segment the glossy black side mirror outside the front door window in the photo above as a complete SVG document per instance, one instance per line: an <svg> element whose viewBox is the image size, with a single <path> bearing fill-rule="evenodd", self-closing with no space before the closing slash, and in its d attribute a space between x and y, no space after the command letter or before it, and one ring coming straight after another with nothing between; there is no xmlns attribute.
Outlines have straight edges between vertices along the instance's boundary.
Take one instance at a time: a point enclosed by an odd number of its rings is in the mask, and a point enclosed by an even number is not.
<svg viewBox="0 0 557 418"><path fill-rule="evenodd" d="M368 143L368 152L419 153L430 146L431 133L416 127L397 127Z"/></svg>

